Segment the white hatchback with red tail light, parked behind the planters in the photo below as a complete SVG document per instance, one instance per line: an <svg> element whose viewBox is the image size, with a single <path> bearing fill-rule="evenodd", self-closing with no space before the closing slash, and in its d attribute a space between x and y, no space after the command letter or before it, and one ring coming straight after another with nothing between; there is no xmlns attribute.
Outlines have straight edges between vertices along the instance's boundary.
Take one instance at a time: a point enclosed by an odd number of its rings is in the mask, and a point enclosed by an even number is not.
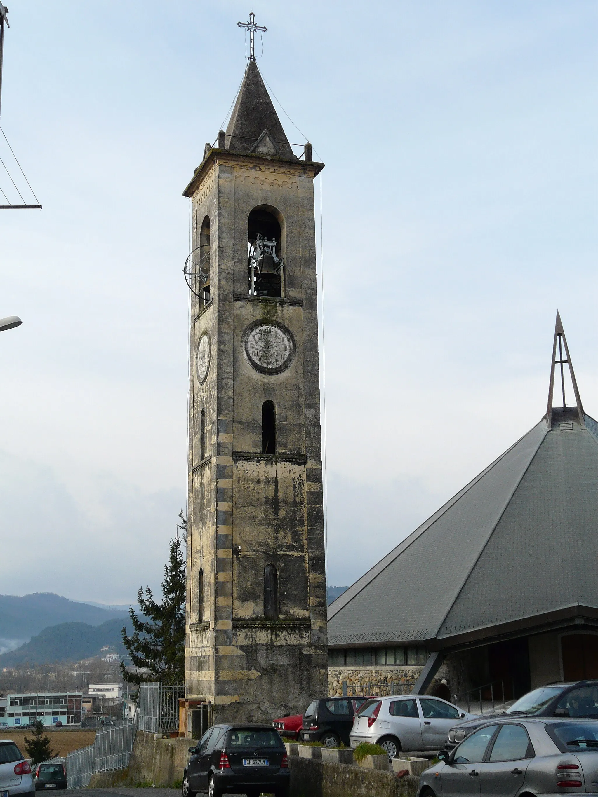
<svg viewBox="0 0 598 797"><path fill-rule="evenodd" d="M442 749L450 728L477 716L440 697L373 697L356 713L349 739L352 748L380 744L389 758L397 758L401 752Z"/></svg>

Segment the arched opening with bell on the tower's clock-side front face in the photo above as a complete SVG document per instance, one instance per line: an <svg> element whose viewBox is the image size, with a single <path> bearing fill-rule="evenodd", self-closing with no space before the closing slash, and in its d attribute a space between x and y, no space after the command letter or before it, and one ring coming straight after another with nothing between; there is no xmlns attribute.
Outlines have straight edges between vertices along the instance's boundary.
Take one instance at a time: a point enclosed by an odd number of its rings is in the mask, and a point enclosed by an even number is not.
<svg viewBox="0 0 598 797"><path fill-rule="evenodd" d="M250 296L284 296L284 219L269 206L255 207L247 223Z"/></svg>

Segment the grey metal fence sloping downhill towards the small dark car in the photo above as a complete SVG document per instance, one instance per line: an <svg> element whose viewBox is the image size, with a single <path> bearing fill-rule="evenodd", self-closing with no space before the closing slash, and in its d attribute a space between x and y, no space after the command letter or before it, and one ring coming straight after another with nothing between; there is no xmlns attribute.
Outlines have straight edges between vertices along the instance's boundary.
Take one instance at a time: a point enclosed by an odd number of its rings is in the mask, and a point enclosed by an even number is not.
<svg viewBox="0 0 598 797"><path fill-rule="evenodd" d="M133 720L119 720L96 732L89 747L69 752L66 757L66 776L69 789L89 786L96 772L109 772L128 767L137 728Z"/></svg>

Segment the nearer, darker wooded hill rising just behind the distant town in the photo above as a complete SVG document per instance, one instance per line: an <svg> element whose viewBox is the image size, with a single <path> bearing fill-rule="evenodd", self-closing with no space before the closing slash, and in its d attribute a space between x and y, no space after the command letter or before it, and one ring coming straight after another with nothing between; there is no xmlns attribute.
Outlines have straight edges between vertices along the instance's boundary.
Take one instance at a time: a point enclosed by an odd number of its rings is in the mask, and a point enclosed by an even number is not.
<svg viewBox="0 0 598 797"><path fill-rule="evenodd" d="M131 633L130 623L127 623ZM90 626L86 622L61 622L49 626L34 636L26 645L17 650L0 655L0 669L53 662L78 662L81 658L91 658L100 654L104 645L112 646L116 653L126 658L126 650L120 638L123 620L116 618L103 622L100 626Z"/></svg>

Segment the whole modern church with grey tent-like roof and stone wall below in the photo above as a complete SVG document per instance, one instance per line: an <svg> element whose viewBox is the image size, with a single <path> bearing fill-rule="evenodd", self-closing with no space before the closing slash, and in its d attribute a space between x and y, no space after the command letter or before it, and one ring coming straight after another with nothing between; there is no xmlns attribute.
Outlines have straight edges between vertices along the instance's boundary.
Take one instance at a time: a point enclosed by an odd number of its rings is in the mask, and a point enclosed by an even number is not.
<svg viewBox="0 0 598 797"><path fill-rule="evenodd" d="M545 416L331 604L331 669L376 676L425 647L416 689L494 683L507 700L598 677L596 562L598 423L557 314Z"/></svg>

